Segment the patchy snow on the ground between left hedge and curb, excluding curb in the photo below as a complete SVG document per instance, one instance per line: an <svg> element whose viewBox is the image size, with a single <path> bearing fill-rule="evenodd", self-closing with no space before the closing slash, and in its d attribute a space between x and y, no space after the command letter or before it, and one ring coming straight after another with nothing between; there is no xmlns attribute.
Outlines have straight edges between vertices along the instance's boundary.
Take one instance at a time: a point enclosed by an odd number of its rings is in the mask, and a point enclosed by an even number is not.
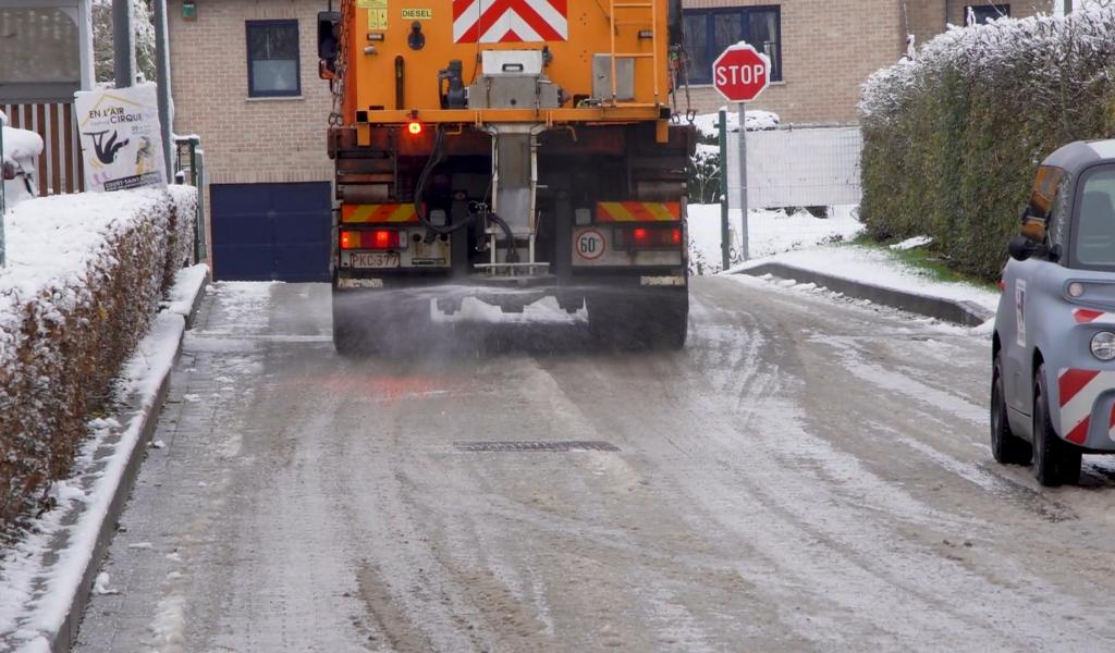
<svg viewBox="0 0 1115 653"><path fill-rule="evenodd" d="M138 409L124 421L88 422L89 437L75 460L75 474L51 487L56 507L43 513L28 535L0 557L0 647L49 650L81 577L143 425L155 410L182 338L182 315L161 313L151 333L125 366L117 392ZM56 557L57 556L57 557ZM107 576L98 587L108 587ZM46 646L45 646L46 645Z"/></svg>

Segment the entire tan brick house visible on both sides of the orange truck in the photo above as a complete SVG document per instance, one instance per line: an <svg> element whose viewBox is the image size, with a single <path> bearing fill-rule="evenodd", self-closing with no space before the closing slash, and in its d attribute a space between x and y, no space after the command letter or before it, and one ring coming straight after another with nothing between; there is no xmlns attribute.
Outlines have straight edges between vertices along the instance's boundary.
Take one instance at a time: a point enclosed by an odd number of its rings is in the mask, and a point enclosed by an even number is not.
<svg viewBox="0 0 1115 653"><path fill-rule="evenodd" d="M682 0L695 108L723 105L709 84L711 61L748 40L775 68L756 108L783 123L854 120L860 85L902 56L908 33L924 42L966 17L1030 16L1049 4ZM328 280L331 97L317 56L317 14L327 8L327 0L168 1L174 130L202 138L219 279Z"/></svg>

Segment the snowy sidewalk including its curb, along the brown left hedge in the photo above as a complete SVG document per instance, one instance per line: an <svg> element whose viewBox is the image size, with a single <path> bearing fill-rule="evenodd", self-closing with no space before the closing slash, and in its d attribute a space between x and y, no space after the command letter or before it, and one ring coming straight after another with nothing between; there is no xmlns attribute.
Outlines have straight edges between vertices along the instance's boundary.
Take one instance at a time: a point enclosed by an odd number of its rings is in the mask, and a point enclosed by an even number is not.
<svg viewBox="0 0 1115 653"><path fill-rule="evenodd" d="M67 651L127 500L166 394L182 338L207 283L205 265L181 270L169 301L117 378L115 415L88 422L70 478L51 485L55 507L0 549L0 650Z"/></svg>

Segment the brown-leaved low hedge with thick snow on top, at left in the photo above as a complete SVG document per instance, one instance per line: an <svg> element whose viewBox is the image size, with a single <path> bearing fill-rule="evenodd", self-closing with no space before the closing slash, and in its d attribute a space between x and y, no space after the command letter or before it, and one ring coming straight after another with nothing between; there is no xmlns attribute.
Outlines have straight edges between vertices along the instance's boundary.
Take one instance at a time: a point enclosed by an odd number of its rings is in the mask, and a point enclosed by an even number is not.
<svg viewBox="0 0 1115 653"><path fill-rule="evenodd" d="M4 218L0 524L65 476L192 243L193 188L41 197ZM185 215L182 212L190 212Z"/></svg>

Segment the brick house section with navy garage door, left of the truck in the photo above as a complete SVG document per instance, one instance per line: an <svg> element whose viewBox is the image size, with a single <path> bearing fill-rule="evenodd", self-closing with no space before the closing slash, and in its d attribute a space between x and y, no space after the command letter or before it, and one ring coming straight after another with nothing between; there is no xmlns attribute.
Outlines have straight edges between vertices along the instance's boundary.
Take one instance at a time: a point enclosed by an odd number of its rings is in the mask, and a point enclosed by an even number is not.
<svg viewBox="0 0 1115 653"><path fill-rule="evenodd" d="M184 7L185 6L185 7ZM217 279L328 281L326 0L169 0L174 130L205 150Z"/></svg>

